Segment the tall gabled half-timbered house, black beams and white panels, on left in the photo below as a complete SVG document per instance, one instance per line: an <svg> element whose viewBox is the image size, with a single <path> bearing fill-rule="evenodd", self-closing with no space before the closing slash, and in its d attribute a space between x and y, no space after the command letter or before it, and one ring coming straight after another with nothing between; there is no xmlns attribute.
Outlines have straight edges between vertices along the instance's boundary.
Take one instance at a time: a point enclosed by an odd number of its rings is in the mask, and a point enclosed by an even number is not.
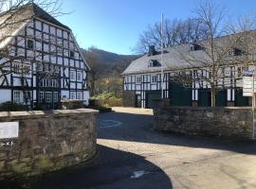
<svg viewBox="0 0 256 189"><path fill-rule="evenodd" d="M10 23L0 28L0 103L48 109L62 99L88 103L90 68L68 26L33 3L0 15L0 21Z"/></svg>

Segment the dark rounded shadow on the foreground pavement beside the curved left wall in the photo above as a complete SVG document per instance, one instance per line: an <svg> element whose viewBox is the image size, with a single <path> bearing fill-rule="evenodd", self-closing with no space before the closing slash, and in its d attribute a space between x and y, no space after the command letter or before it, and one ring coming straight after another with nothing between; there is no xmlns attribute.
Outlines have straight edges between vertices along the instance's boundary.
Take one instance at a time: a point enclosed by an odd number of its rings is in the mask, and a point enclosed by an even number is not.
<svg viewBox="0 0 256 189"><path fill-rule="evenodd" d="M87 188L173 188L169 177L155 164L143 157L106 146L98 146L98 156L90 165L81 164L19 182L5 181L0 188L87 189ZM138 178L135 172L144 171ZM138 172L138 173L140 173ZM29 183L28 183L29 182ZM22 187L22 185L27 185Z"/></svg>

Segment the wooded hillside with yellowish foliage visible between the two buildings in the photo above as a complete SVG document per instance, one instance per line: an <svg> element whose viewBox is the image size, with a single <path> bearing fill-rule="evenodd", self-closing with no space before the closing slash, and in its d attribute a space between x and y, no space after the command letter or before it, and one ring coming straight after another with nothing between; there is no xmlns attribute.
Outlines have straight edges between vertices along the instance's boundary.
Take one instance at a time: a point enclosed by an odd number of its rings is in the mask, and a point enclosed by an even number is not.
<svg viewBox="0 0 256 189"><path fill-rule="evenodd" d="M82 53L92 69L88 76L88 87L91 96L111 93L120 97L122 88L120 74L138 56L119 55L96 47L82 49Z"/></svg>

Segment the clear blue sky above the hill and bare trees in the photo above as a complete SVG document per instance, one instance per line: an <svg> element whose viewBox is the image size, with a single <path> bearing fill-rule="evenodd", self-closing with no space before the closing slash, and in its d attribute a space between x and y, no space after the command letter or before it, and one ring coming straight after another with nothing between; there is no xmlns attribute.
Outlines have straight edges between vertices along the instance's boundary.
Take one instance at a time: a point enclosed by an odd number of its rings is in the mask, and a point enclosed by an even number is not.
<svg viewBox="0 0 256 189"><path fill-rule="evenodd" d="M118 54L133 54L138 35L150 24L165 18L186 19L198 0L63 0L64 11L58 18L72 28L82 48L95 45ZM256 14L256 0L222 0L229 15Z"/></svg>

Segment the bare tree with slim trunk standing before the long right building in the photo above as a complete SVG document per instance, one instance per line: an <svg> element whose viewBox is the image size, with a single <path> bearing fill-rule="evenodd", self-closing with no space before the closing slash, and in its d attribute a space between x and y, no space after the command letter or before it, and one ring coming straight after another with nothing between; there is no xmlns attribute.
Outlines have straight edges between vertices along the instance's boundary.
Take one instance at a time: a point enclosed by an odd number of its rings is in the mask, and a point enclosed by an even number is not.
<svg viewBox="0 0 256 189"><path fill-rule="evenodd" d="M253 48L245 48L245 45L251 40L252 33L247 30L248 27L246 28L245 25L241 33L238 33L238 30L231 31L230 24L226 25L225 9L213 5L210 1L198 5L194 14L194 19L206 26L207 39L191 45L188 44L187 49L176 49L180 60L184 60L190 64L190 67L199 68L198 70L204 72L202 74L202 72L194 70L192 74L190 73L190 76L183 73L183 75L176 74L176 78L183 84L191 83L192 85L192 82L196 82L208 85L211 94L211 106L214 107L216 92L233 85L230 77L235 76L231 75L232 71L229 68L231 66L235 67L237 64L247 64L245 55L250 57L248 55L251 55ZM254 40L256 40L255 37ZM254 40L252 43L255 43ZM235 72L233 73L235 74ZM229 80L229 83L226 83L226 80ZM200 86L200 88L203 87Z"/></svg>

